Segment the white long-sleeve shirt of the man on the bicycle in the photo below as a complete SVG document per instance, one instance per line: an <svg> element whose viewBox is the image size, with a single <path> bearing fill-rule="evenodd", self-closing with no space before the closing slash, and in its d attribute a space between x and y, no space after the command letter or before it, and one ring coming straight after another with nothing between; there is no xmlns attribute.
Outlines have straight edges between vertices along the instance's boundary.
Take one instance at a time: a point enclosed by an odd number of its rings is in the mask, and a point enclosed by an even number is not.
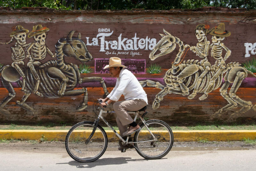
<svg viewBox="0 0 256 171"><path fill-rule="evenodd" d="M140 85L137 78L127 69L120 71L119 77L116 78L116 86L107 96L110 100L118 101L124 95L125 100L142 99L148 104L146 92Z"/></svg>

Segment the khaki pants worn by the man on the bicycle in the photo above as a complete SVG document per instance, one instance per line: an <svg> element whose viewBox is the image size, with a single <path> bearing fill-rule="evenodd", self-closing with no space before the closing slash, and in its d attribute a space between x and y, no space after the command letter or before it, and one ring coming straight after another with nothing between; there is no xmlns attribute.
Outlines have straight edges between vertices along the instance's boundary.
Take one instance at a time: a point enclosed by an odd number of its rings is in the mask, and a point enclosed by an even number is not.
<svg viewBox="0 0 256 171"><path fill-rule="evenodd" d="M127 111L137 111L146 106L147 103L142 99L118 101L113 104L116 112L116 122L122 136L127 131L127 125L133 122L132 117Z"/></svg>

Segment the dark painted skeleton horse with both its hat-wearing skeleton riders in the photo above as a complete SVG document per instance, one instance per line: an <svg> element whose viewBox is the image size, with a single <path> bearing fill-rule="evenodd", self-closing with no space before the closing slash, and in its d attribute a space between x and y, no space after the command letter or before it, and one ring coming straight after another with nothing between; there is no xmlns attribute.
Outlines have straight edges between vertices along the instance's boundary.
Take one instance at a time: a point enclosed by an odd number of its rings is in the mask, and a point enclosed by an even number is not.
<svg viewBox="0 0 256 171"><path fill-rule="evenodd" d="M49 28L42 25L35 25L28 34L28 29L17 25L12 27L11 40L2 43L15 44L11 46L12 64L1 68L1 80L4 88L9 93L2 100L0 104L1 109L16 96L12 86L13 82L18 82L21 91L24 92L22 99L16 101L17 105L29 112L36 112L33 106L26 103L31 93L41 98L84 94L82 102L76 108L77 111L84 110L88 105L87 89L75 89L77 84L100 82L105 96L108 95L108 90L101 77L81 78L77 65L65 62L64 60L64 57L75 58L81 63L92 60L92 55L81 39L81 34L78 33L75 36L75 31L70 31L66 38L60 38L55 44L55 54L53 54L46 46L46 33L49 30ZM27 43L27 34L28 38L33 37L34 42ZM41 60L47 54L55 59L41 63ZM25 58L28 58L28 63L24 62Z"/></svg>

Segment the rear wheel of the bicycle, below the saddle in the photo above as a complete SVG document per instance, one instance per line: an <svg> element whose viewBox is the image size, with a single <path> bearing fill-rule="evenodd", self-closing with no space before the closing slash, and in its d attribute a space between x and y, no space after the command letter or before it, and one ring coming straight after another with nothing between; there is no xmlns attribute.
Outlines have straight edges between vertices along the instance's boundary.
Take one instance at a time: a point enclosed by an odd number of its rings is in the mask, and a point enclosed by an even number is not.
<svg viewBox="0 0 256 171"><path fill-rule="evenodd" d="M160 159L172 148L172 129L162 120L148 120L146 124L155 139L142 123L141 130L134 134L135 149L146 159Z"/></svg>

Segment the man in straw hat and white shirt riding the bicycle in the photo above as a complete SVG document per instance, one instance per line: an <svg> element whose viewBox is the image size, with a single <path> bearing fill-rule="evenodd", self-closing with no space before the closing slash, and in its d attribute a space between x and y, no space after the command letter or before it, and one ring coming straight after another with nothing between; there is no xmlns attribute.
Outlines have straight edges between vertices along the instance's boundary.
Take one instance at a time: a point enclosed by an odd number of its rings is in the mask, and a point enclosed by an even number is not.
<svg viewBox="0 0 256 171"><path fill-rule="evenodd" d="M121 136L129 136L139 131L140 126L133 121L127 111L137 111L148 104L147 94L141 87L137 78L131 71L125 69L126 66L121 64L121 59L117 57L109 58L109 68L111 76L116 77L116 86L105 99L101 99L101 107L116 101L113 109L116 112L116 122ZM124 95L123 101L118 101L121 95ZM129 128L127 128L129 125ZM131 147L133 147L131 145ZM121 147L118 150L122 150Z"/></svg>

